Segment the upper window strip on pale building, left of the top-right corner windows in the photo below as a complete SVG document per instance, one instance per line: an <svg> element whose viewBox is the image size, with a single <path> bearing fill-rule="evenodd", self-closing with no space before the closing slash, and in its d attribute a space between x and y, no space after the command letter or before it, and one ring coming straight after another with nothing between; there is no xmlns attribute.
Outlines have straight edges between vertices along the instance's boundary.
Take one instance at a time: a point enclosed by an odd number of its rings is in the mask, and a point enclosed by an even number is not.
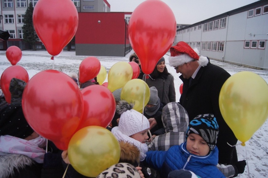
<svg viewBox="0 0 268 178"><path fill-rule="evenodd" d="M193 30L195 31L196 29L200 30L201 28L202 28L202 24L198 25L198 26L191 27L191 28L187 28L187 32L189 32L190 29L191 29L191 31L193 31ZM221 28L226 28L226 17L203 24L203 31L217 30L217 29L221 29ZM185 32L186 32L186 30L179 31L179 34L182 34Z"/></svg>

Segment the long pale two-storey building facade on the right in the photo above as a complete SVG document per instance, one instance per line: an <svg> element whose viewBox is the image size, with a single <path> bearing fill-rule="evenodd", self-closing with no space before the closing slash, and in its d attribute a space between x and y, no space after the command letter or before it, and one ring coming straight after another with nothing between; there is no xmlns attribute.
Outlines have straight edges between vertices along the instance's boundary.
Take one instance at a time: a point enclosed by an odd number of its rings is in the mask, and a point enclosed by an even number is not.
<svg viewBox="0 0 268 178"><path fill-rule="evenodd" d="M176 42L211 59L268 70L268 1L260 0L177 30Z"/></svg>

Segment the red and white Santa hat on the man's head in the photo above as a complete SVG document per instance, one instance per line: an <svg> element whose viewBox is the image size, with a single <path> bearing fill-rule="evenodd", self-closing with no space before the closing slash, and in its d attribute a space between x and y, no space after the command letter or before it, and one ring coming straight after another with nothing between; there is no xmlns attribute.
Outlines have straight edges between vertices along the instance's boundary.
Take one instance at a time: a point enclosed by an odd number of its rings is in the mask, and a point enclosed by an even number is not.
<svg viewBox="0 0 268 178"><path fill-rule="evenodd" d="M197 60L198 64L203 67L209 62L207 57L199 56L197 48L193 49L186 42L178 42L175 46L170 47L170 66L177 67L193 60Z"/></svg>

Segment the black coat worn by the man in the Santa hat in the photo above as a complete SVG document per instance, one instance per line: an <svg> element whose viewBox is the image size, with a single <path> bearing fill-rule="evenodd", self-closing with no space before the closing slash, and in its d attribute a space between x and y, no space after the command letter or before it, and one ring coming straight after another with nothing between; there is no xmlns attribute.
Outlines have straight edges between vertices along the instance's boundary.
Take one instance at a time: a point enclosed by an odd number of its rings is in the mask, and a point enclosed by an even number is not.
<svg viewBox="0 0 268 178"><path fill-rule="evenodd" d="M199 114L213 113L219 124L219 136L217 147L219 149L219 163L232 164L237 162L235 145L237 138L230 127L226 124L219 108L219 94L224 82L231 75L226 70L214 64L208 63L201 67L189 87L189 80L183 81L183 92L180 97L180 104L187 110L189 121Z"/></svg>

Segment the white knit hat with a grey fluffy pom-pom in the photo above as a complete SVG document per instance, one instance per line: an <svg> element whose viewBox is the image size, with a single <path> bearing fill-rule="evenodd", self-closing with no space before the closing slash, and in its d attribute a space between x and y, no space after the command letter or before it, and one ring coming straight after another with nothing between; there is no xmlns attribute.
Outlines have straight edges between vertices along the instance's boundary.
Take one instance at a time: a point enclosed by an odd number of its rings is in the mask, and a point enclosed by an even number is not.
<svg viewBox="0 0 268 178"><path fill-rule="evenodd" d="M129 104L125 100L120 100L118 105L116 105L117 113L121 114L118 125L119 130L127 136L150 128L148 119L138 111L132 109L133 106L133 103Z"/></svg>

